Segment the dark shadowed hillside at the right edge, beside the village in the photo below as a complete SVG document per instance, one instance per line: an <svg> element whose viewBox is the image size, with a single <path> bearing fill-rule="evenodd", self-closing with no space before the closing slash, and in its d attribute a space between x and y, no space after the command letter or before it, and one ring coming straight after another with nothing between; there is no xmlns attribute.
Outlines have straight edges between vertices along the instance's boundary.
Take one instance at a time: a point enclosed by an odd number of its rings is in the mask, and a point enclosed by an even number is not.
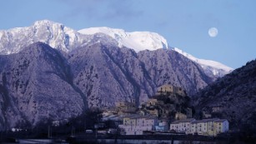
<svg viewBox="0 0 256 144"><path fill-rule="evenodd" d="M256 61L219 78L194 98L199 111L228 118L233 128L256 122Z"/></svg>

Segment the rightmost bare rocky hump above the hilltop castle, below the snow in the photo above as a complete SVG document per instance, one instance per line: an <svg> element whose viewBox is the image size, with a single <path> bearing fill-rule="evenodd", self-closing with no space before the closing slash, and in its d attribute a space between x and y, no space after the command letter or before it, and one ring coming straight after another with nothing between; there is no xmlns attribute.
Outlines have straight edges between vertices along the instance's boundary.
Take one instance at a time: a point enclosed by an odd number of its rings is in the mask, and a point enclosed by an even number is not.
<svg viewBox="0 0 256 144"><path fill-rule="evenodd" d="M138 52L138 58L157 87L163 84L183 87L191 96L213 82L202 67L173 50Z"/></svg>

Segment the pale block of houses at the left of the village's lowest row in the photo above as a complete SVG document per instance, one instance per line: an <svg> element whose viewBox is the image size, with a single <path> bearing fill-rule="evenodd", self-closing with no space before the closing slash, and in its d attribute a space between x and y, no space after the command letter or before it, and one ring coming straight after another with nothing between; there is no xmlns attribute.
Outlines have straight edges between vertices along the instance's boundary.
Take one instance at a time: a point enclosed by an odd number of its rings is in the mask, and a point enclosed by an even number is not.
<svg viewBox="0 0 256 144"><path fill-rule="evenodd" d="M144 131L153 131L157 122L157 117L154 116L133 115L123 117L123 125L119 127L123 128L125 135L143 135Z"/></svg>

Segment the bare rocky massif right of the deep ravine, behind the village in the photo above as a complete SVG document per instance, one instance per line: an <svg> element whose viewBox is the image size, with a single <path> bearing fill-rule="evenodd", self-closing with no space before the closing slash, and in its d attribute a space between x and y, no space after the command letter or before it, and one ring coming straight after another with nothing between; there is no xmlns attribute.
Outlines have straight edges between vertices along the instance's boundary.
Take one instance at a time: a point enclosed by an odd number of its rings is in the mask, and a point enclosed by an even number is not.
<svg viewBox="0 0 256 144"><path fill-rule="evenodd" d="M113 106L118 101L146 102L156 88L173 84L192 95L212 82L201 67L172 50L134 52L101 43L82 47L68 56L74 84L88 97L89 107Z"/></svg>

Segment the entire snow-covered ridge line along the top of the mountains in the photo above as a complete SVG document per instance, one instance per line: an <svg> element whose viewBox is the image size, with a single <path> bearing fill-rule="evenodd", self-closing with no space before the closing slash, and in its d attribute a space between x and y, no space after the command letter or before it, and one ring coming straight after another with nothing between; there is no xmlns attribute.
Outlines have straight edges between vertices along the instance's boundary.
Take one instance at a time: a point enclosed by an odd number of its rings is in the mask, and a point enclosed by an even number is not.
<svg viewBox="0 0 256 144"><path fill-rule="evenodd" d="M197 62L209 77L223 77L233 71L233 68L219 62L198 59L182 52L177 47L169 47L167 40L155 32L125 32L123 29L109 27L91 27L76 31L61 23L48 20L34 22L31 27L0 30L0 54L17 53L33 42L45 42L63 52L71 52L77 47L88 45L93 38L101 37L98 36L98 33L112 37L111 41L115 42L118 47L128 47L135 52L153 51L159 48L173 49L193 62ZM110 42L110 38L108 38L108 42Z"/></svg>

